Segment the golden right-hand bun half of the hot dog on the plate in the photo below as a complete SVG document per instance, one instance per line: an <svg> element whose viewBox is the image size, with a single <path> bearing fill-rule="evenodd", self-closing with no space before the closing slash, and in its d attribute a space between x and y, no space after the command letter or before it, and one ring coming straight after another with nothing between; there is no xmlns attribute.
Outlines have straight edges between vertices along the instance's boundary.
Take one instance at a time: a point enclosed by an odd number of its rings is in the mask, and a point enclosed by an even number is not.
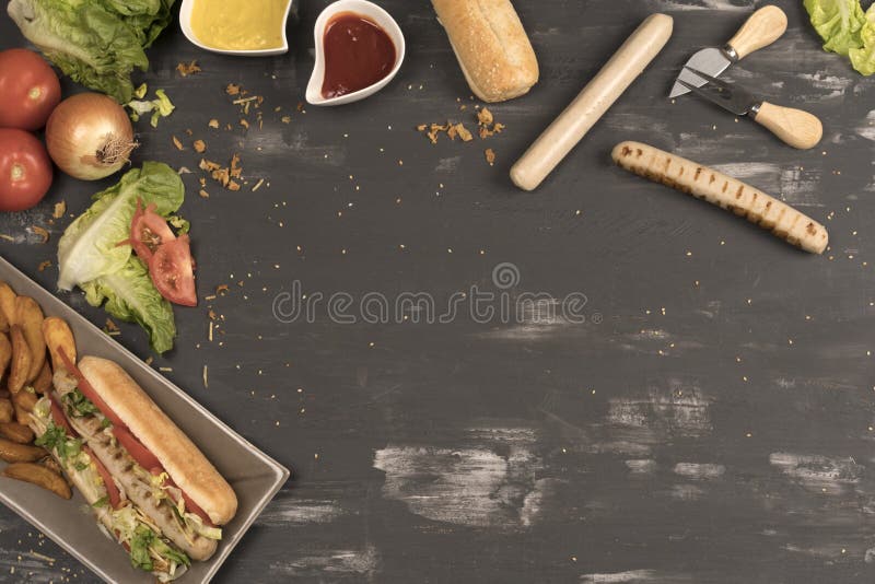
<svg viewBox="0 0 875 584"><path fill-rule="evenodd" d="M237 511L231 486L124 369L106 359L84 357L79 370L212 523L231 521Z"/></svg>

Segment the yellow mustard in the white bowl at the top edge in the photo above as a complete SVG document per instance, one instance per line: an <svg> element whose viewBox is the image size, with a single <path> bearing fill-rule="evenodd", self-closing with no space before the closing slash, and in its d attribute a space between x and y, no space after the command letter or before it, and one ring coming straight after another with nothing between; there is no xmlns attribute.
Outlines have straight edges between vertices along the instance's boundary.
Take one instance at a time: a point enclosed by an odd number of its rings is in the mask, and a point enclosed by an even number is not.
<svg viewBox="0 0 875 584"><path fill-rule="evenodd" d="M290 0L195 0L191 32L200 43L226 50L282 47Z"/></svg>

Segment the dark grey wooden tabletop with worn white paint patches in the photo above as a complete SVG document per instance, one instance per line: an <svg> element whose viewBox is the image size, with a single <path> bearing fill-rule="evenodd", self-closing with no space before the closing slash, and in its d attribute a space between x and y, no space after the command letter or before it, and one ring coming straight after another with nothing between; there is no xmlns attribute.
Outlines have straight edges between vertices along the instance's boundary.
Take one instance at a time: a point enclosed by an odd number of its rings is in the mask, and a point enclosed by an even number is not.
<svg viewBox="0 0 875 584"><path fill-rule="evenodd" d="M540 83L491 107L500 136L436 145L416 126L474 128L476 102L424 0L382 2L408 40L385 91L296 109L325 3L303 2L293 50L278 58L201 52L174 25L143 75L177 110L138 126L135 164L194 171L183 210L199 293L230 288L176 311L177 348L154 366L294 469L219 581L871 582L875 82L820 50L802 3L778 2L786 35L728 78L820 116L824 141L808 152L665 97L688 54L734 33L747 0L520 1ZM514 189L515 157L653 11L675 17L664 52L548 183ZM22 44L0 17L0 48ZM180 78L176 65L191 59L203 71ZM240 126L230 82L264 96L260 128L253 114ZM211 118L233 129L210 129ZM211 160L240 152L248 184L208 182L210 198L198 197L195 138ZM803 254L612 167L622 139L780 195L827 225L829 250ZM57 176L39 207L0 217L14 240L0 253L52 289L56 268L37 266L69 223L49 225L52 203L79 213L109 183ZM299 284L324 300L289 322L281 294ZM375 294L395 306L421 292L440 312L475 291L493 294L491 317L464 303L446 323L427 322L427 304L377 323L361 311ZM338 292L355 323L328 313ZM517 302L526 293L542 294ZM62 297L104 324L79 293ZM556 309L567 297L574 318ZM521 314L502 318L505 301ZM150 354L136 327L118 341ZM93 580L5 510L0 574Z"/></svg>

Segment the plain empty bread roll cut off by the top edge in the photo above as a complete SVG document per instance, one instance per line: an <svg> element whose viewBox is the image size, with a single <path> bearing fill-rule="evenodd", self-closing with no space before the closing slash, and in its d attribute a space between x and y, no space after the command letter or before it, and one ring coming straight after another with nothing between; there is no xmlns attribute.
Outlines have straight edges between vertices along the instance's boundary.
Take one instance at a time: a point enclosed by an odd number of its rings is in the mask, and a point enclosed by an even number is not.
<svg viewBox="0 0 875 584"><path fill-rule="evenodd" d="M538 82L538 60L510 0L432 0L471 91L485 102L518 97Z"/></svg>

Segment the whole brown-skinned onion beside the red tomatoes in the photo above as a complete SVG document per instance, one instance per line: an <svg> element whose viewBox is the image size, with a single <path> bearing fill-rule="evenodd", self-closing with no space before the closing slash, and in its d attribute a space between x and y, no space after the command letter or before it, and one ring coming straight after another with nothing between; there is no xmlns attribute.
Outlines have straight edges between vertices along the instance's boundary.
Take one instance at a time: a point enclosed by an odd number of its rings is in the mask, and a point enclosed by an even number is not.
<svg viewBox="0 0 875 584"><path fill-rule="evenodd" d="M46 122L48 155L73 178L97 180L118 172L137 145L125 108L101 93L68 97Z"/></svg>

